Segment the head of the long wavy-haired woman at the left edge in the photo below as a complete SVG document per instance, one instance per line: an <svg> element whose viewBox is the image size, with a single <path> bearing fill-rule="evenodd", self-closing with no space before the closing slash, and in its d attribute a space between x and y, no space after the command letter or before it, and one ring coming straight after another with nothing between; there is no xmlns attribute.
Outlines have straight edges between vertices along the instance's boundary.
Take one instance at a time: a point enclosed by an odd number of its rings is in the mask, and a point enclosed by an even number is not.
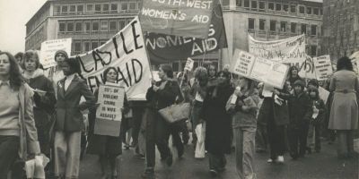
<svg viewBox="0 0 359 179"><path fill-rule="evenodd" d="M13 90L19 90L22 85L22 73L15 57L8 52L0 52L0 77L8 79Z"/></svg>

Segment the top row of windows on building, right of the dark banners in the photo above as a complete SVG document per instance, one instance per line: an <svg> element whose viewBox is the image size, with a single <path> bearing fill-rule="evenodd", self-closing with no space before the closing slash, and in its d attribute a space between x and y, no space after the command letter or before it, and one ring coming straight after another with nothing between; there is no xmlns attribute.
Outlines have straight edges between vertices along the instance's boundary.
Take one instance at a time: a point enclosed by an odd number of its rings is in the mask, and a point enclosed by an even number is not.
<svg viewBox="0 0 359 179"><path fill-rule="evenodd" d="M238 7L243 7L247 10L261 11L277 11L285 13L306 13L310 15L322 15L323 11L320 7L305 6L303 4L283 4L257 0L237 0Z"/></svg>

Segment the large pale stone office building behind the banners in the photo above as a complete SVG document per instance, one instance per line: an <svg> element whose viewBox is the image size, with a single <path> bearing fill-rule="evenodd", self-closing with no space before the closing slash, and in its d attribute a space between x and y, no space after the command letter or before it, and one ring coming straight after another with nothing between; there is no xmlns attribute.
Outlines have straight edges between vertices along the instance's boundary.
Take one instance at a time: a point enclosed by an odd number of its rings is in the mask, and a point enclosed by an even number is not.
<svg viewBox="0 0 359 179"><path fill-rule="evenodd" d="M318 55L322 0L221 0L228 48L195 57L195 67L211 62L230 64L235 48L248 50L250 34L261 40L288 38L302 33L307 54ZM72 38L72 55L100 47L127 25L142 0L48 0L26 24L25 49L38 49L48 39ZM171 63L174 71L187 59Z"/></svg>

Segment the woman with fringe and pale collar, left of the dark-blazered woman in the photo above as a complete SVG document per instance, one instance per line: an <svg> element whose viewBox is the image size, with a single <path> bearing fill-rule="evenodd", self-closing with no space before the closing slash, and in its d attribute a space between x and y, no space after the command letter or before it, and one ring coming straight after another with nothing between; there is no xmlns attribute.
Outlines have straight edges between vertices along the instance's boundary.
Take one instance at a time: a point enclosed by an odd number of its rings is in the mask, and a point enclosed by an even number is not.
<svg viewBox="0 0 359 179"><path fill-rule="evenodd" d="M36 51L29 50L23 55L22 76L26 79L31 89L35 90L33 113L35 125L38 129L39 146L41 152L49 157L50 143L48 128L50 115L54 112L56 103L52 82L44 76L39 68L39 55Z"/></svg>

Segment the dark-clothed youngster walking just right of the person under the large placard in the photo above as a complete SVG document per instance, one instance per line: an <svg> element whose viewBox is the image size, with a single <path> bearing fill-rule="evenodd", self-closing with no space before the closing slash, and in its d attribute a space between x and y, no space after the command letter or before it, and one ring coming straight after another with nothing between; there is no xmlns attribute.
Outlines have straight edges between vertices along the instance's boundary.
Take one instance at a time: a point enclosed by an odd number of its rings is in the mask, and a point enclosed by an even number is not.
<svg viewBox="0 0 359 179"><path fill-rule="evenodd" d="M288 141L290 155L293 159L304 157L307 149L308 128L311 121L311 98L304 92L304 82L294 81L294 94L288 100L289 125ZM299 149L298 149L299 144Z"/></svg>

